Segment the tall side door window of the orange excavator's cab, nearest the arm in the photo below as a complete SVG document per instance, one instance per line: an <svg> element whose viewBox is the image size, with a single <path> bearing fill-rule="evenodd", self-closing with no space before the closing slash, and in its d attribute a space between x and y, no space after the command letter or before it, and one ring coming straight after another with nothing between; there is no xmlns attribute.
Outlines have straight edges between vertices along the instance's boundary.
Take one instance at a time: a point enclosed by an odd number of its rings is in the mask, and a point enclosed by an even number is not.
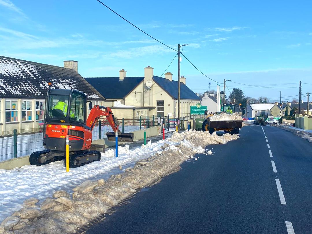
<svg viewBox="0 0 312 234"><path fill-rule="evenodd" d="M85 123L85 103L85 97L80 93L74 92L71 95L71 111L69 113L69 119L71 121Z"/></svg>

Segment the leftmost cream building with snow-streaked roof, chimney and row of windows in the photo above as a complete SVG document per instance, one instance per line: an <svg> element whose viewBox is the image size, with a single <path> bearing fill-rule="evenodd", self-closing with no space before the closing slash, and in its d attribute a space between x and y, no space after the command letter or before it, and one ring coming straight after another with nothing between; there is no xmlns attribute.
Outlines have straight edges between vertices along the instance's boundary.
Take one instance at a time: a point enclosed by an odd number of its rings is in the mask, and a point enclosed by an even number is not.
<svg viewBox="0 0 312 234"><path fill-rule="evenodd" d="M38 127L44 119L48 82L54 89L76 89L89 101L104 102L77 70L77 61L59 67L0 56L0 131Z"/></svg>

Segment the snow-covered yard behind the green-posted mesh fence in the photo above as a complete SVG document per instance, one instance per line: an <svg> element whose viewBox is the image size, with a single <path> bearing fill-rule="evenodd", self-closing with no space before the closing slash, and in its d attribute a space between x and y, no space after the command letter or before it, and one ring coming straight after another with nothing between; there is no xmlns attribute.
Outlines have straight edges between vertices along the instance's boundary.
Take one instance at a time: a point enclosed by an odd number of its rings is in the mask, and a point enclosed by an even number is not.
<svg viewBox="0 0 312 234"><path fill-rule="evenodd" d="M122 128L122 126L120 126ZM125 125L124 132L132 132L140 129L137 125ZM113 131L110 126L102 126L101 138L107 138L106 132ZM99 139L99 126L92 130L92 140ZM13 158L13 137L0 138L0 162ZM42 133L17 135L17 157L30 155L34 151L44 150L42 146Z"/></svg>

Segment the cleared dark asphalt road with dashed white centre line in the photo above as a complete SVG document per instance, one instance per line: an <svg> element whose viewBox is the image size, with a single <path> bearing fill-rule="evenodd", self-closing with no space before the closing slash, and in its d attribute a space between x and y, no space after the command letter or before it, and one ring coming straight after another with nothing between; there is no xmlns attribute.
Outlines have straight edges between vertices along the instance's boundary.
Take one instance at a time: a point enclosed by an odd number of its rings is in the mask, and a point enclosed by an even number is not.
<svg viewBox="0 0 312 234"><path fill-rule="evenodd" d="M209 145L213 155L184 162L87 233L312 233L312 144L272 126L240 134Z"/></svg>

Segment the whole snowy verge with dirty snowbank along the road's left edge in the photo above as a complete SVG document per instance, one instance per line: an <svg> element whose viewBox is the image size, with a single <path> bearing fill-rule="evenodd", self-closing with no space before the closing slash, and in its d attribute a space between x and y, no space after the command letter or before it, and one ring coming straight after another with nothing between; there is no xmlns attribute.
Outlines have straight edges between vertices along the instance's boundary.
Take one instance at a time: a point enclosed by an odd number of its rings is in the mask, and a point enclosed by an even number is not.
<svg viewBox="0 0 312 234"><path fill-rule="evenodd" d="M123 199L135 193L136 189L143 188L177 170L183 161L193 158L193 154L212 154L210 150L205 152L202 149L203 146L226 144L228 141L238 138L239 136L235 134L217 136L216 133L209 134L208 132L187 130L181 134L174 132L166 141L160 140L153 144L149 142L146 146L142 145L138 149L130 150L129 146L119 147L119 152L123 152L122 155L124 156L119 156L123 158L121 160L119 157L112 158L114 150L108 150L103 154L103 159L100 162L73 168L69 173L64 173L65 168L62 162L50 163L41 167L24 166L19 169L22 174L20 177L18 177L18 169L2 171L0 178L4 177L10 181L18 180L13 185L6 183L6 189L11 188L11 193L14 193L17 184L23 183L24 179L28 179L25 183L28 186L20 187L19 189L24 191L19 191L18 195L9 193L6 199L0 197L0 201L11 202L10 198L14 196L23 201L23 193L26 191L37 191L37 193L32 193L34 197L24 201L24 208L2 221L0 233L4 230L11 231L7 233L23 234L75 232L88 221L107 212L109 208L116 206ZM134 167L132 165L120 173L122 165L127 165L125 163L127 161L124 162L127 158L132 158L132 161L137 162ZM84 181L75 188L78 182L81 183L81 178L90 178L93 174L99 175L93 177L93 179L98 179L97 181ZM45 183L48 183L46 188ZM51 187L65 188L67 192L54 192L55 190L51 190ZM71 195L68 191L69 188L74 191ZM46 189L50 191L46 193ZM52 191L54 193L51 193ZM47 198L40 204L36 197L40 197L39 199ZM40 209L36 204L40 204ZM14 210L17 210L17 206ZM1 209L2 211L3 209Z"/></svg>

